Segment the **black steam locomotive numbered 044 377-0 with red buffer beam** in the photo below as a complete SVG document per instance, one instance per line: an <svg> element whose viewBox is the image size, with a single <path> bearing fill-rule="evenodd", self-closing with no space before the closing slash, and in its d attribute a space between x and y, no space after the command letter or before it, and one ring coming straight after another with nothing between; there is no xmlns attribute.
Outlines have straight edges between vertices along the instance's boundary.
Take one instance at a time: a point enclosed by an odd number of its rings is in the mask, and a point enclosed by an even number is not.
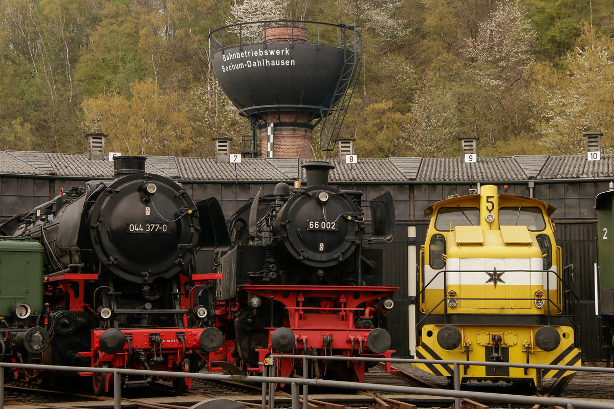
<svg viewBox="0 0 614 409"><path fill-rule="evenodd" d="M195 372L199 351L222 345L207 309L217 276L194 261L198 250L230 244L219 202L195 204L178 183L146 173L145 162L115 158L114 180L71 188L0 226L44 248L44 362ZM174 380L179 389L188 382ZM93 385L101 393L108 380L94 373Z"/></svg>

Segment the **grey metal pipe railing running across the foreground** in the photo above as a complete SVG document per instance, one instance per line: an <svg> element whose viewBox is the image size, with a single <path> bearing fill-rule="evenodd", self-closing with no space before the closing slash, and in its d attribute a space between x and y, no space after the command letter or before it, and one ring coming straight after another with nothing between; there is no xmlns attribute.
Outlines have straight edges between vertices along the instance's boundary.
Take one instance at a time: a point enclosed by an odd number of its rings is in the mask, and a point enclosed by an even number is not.
<svg viewBox="0 0 614 409"><path fill-rule="evenodd" d="M276 360L278 359L302 359L303 373L308 371L308 360L319 361L366 361L366 362L389 362L403 364L445 364L454 365L454 390L449 389L432 389L418 388L414 386L395 386L387 384L359 383L347 381L330 381L322 379L304 378L281 378L268 376L275 372ZM395 392L400 394L424 394L438 397L453 397L454 407L461 407L461 399L477 399L489 400L492 402L504 403L523 403L523 404L540 404L547 406L562 406L567 409L585 408L585 409L612 409L611 403L606 402L590 402L583 400L567 399L561 397L539 397L539 396L519 396L511 394L495 394L492 392L473 392L461 391L461 365L483 365L495 367L515 367L515 368L533 368L536 370L564 370L576 372L601 372L614 374L614 368L601 367L575 367L567 365L542 365L542 364L519 364L508 362L479 362L479 361L433 361L429 359L400 359L400 358L376 358L376 357L345 357L345 356L311 356L311 355L287 355L273 354L266 359L267 362L261 362L264 365L263 376L252 375L222 375L215 373L187 373L187 372L170 372L170 371L152 371L138 369L121 369L121 368L97 368L97 367L71 367L60 365L41 365L41 364L14 364L10 362L0 362L0 368L15 368L15 369L41 369L41 370L56 370L66 372L96 372L96 373L111 373L113 375L113 392L114 392L114 409L122 407L122 388L120 375L138 375L138 376L157 376L168 378L192 378L201 380L217 380L217 381L241 381L249 383L262 383L262 409L274 407L274 390L276 384L290 384L292 391L292 409L299 408L300 396L298 394L298 386L303 385L303 401L308 402L308 386L324 386L328 388L344 388L382 392ZM266 397L267 385L269 386L268 402ZM267 406L268 404L268 406ZM4 370L0 370L0 409L4 409Z"/></svg>

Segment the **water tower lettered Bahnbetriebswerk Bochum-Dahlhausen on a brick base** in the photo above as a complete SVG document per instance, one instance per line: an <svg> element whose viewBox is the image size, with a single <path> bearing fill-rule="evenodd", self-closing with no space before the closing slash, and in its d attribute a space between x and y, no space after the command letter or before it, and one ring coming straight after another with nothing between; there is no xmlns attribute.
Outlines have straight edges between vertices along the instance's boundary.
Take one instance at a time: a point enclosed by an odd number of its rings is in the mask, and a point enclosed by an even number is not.
<svg viewBox="0 0 614 409"><path fill-rule="evenodd" d="M251 151L311 158L313 128L333 150L362 66L360 27L313 21L257 21L209 35L222 90L251 122ZM249 150L247 150L249 151Z"/></svg>

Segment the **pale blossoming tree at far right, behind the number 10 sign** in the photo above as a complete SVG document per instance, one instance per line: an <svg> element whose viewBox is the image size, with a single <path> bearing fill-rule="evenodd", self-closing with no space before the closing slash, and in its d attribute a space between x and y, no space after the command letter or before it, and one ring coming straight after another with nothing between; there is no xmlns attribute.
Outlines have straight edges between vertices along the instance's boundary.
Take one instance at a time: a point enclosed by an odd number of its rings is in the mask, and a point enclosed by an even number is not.
<svg viewBox="0 0 614 409"><path fill-rule="evenodd" d="M532 95L535 129L553 153L577 155L584 151L585 132L604 133L602 148L614 151L614 39L589 27L577 47L561 61L558 71L536 64Z"/></svg>

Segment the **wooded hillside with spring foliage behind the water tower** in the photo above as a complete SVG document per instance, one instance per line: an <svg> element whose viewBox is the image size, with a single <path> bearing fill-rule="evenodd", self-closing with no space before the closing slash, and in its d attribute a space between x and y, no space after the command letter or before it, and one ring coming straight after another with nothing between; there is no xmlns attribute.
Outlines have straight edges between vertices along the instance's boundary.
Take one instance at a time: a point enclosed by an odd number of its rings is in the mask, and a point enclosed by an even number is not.
<svg viewBox="0 0 614 409"><path fill-rule="evenodd" d="M0 150L240 151L249 123L209 66L238 21L357 23L364 65L341 137L362 158L614 151L611 0L0 0ZM314 138L317 139L317 138ZM317 156L333 156L320 152Z"/></svg>

